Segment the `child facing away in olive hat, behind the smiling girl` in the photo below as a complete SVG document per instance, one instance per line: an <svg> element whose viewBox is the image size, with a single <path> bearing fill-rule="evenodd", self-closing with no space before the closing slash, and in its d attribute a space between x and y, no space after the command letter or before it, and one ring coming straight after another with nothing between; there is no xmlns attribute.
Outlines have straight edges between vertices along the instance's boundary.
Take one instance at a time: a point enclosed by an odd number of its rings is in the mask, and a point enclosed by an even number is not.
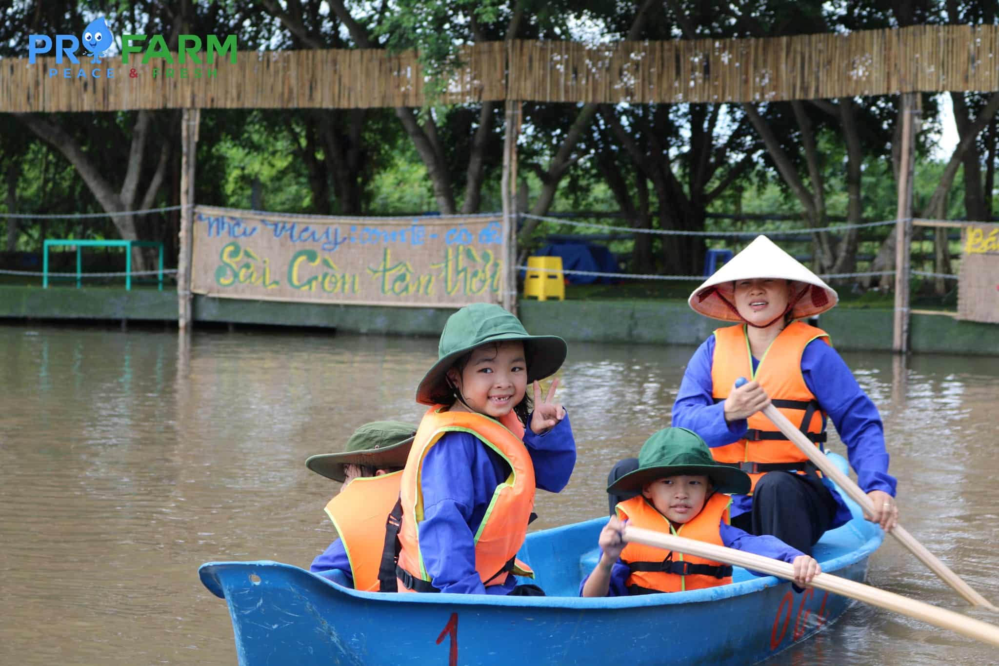
<svg viewBox="0 0 999 666"><path fill-rule="evenodd" d="M309 456L307 467L343 483L326 505L339 538L313 560L310 571L347 587L383 589L378 573L386 521L399 499L403 465L416 434L411 423L374 421L355 430L340 453ZM390 585L384 591L395 589Z"/></svg>

